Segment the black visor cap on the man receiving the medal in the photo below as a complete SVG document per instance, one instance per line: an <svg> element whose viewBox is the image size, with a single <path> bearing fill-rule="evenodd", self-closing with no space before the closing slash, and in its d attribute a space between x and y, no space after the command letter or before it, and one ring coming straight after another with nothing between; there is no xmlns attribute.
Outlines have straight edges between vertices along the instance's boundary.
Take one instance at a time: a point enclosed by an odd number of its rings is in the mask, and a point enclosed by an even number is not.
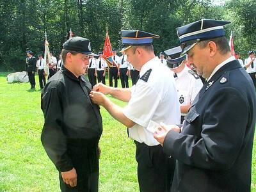
<svg viewBox="0 0 256 192"><path fill-rule="evenodd" d="M70 38L63 44L63 49L68 51L76 51L89 56L98 56L92 52L90 40L81 36Z"/></svg>

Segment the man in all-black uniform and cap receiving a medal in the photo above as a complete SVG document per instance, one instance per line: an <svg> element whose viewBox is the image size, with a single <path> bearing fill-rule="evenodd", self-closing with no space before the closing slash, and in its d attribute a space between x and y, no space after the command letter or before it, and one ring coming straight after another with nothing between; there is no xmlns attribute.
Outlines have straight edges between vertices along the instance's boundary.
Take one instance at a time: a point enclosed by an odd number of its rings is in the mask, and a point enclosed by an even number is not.
<svg viewBox="0 0 256 192"><path fill-rule="evenodd" d="M42 144L60 172L61 191L98 191L102 118L83 76L89 56L97 55L79 36L67 40L61 54L63 66L42 91Z"/></svg>

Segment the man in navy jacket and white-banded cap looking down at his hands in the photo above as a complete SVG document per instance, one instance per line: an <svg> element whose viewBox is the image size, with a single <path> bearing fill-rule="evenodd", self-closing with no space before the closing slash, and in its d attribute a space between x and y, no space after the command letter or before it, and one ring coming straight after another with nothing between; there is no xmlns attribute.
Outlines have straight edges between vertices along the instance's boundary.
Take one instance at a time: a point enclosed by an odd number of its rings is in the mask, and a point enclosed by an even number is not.
<svg viewBox="0 0 256 192"><path fill-rule="evenodd" d="M252 79L231 55L228 23L202 19L177 29L182 53L207 81L181 129L155 134L177 159L172 191L251 189L256 97Z"/></svg>

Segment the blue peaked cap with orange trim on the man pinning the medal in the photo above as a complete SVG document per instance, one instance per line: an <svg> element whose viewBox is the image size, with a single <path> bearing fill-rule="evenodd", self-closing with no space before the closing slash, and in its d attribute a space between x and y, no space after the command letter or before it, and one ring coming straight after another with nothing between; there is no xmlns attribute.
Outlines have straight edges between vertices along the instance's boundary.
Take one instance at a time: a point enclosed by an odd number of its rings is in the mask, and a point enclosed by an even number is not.
<svg viewBox="0 0 256 192"><path fill-rule="evenodd" d="M121 38L122 43L126 46L122 51L125 51L132 45L150 45L154 38L159 38L159 35L139 30L122 30Z"/></svg>

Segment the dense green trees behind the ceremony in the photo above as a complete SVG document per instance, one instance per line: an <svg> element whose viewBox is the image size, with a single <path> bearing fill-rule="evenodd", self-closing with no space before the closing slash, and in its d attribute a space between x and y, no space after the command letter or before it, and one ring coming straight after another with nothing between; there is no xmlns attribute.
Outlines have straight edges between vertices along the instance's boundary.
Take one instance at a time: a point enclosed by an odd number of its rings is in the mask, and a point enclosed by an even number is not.
<svg viewBox="0 0 256 192"><path fill-rule="evenodd" d="M45 31L50 50L61 51L72 28L85 36L94 52L102 51L106 27L113 47L122 48L121 29L140 29L159 35L156 54L179 45L176 28L200 19L231 20L235 50L243 59L256 49L256 1L227 0L17 0L0 1L0 70L23 70L28 47L37 55L44 52Z"/></svg>

